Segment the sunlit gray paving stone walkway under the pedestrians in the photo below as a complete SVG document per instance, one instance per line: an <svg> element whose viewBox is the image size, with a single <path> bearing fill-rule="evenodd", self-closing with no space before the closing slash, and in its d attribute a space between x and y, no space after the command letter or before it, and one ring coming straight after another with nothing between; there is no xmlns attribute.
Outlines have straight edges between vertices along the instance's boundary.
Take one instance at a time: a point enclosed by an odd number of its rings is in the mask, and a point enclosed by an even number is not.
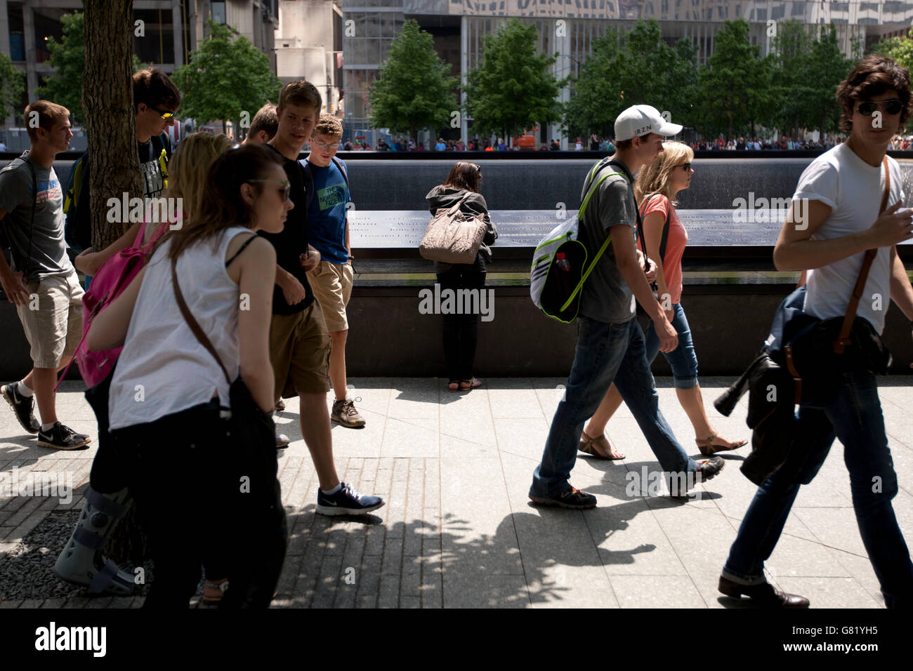
<svg viewBox="0 0 913 671"><path fill-rule="evenodd" d="M334 425L337 468L362 493L387 505L364 519L314 512L317 477L301 440L297 401L278 414L292 443L279 453L289 551L274 607L598 606L723 607L716 585L729 544L755 488L739 472L750 449L724 453L727 467L681 502L631 491L629 474L658 470L633 417L622 407L608 435L626 458L581 456L572 484L598 508L535 508L527 492L565 381L491 379L471 393L449 393L440 379L353 379L367 421ZM731 437L750 436L747 397L731 417L711 402L731 382L702 380L711 421ZM894 501L913 544L913 378L882 380L881 401L897 468ZM660 407L689 454L698 457L687 416L669 379L657 379ZM95 434L78 383L65 383L58 414ZM331 397L328 395L328 404ZM14 469L71 478L73 498L6 496L0 490L0 566L52 512L79 509L94 449L55 452L35 445L5 404L0 407L0 477ZM884 601L866 556L849 491L843 448L834 443L813 484L796 500L768 577L808 596L813 607L878 608ZM179 467L175 464L175 467ZM35 476L32 476L35 477ZM52 561L49 558L48 561ZM0 608L138 607L142 597L8 599Z"/></svg>

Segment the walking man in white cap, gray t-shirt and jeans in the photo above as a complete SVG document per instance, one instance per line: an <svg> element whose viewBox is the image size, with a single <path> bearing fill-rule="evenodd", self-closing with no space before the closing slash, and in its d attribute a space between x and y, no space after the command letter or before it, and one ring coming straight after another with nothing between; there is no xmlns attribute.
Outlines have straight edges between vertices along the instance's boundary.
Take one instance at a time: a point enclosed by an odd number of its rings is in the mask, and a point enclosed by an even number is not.
<svg viewBox="0 0 913 671"><path fill-rule="evenodd" d="M662 151L664 137L682 127L666 122L656 108L635 105L615 120L617 152L588 174L582 199L593 188L580 221L579 239L588 257L602 255L581 290L577 347L564 398L558 404L542 461L532 477L530 499L543 506L594 508L596 498L571 487L583 423L595 412L613 382L634 414L650 448L666 474L672 494L716 476L719 456L700 464L687 456L659 411L653 374L645 356L644 333L635 320L635 299L654 320L660 351L677 347L677 334L656 300L639 251L635 247L639 220L633 174ZM603 178L604 173L610 173ZM611 243L604 245L606 238Z"/></svg>

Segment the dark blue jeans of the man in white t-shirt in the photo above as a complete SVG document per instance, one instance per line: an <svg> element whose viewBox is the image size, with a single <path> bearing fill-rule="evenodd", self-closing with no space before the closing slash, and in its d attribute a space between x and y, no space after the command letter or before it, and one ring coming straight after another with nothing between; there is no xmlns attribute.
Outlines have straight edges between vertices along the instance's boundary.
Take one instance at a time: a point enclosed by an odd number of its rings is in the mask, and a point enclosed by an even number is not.
<svg viewBox="0 0 913 671"><path fill-rule="evenodd" d="M844 444L856 523L889 608L913 604L913 563L891 499L897 474L887 446L885 420L872 373L844 374L833 402L803 407L786 462L758 488L739 535L729 549L723 575L743 584L764 581L764 561L773 552L800 485L810 483L831 449Z"/></svg>

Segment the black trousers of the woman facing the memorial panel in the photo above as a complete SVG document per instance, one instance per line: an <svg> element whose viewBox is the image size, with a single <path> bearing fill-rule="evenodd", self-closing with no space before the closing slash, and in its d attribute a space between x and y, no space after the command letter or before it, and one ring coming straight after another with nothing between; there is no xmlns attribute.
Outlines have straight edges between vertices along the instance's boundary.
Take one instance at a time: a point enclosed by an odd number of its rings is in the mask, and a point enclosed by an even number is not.
<svg viewBox="0 0 913 671"><path fill-rule="evenodd" d="M461 288L475 288L479 291L485 287L485 266L455 266L450 270L437 273L437 283L441 291ZM447 363L447 378L450 382L472 379L472 362L476 359L478 342L477 314L444 315L444 358Z"/></svg>

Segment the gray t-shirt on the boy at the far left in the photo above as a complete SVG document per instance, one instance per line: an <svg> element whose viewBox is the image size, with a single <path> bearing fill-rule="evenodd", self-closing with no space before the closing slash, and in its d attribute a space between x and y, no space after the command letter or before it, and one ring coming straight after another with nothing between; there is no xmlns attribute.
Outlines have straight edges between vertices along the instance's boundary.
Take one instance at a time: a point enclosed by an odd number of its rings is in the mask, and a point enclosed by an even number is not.
<svg viewBox="0 0 913 671"><path fill-rule="evenodd" d="M15 159L0 170L0 209L6 211L0 226L13 250L14 267L28 271L29 280L68 275L73 265L64 242L63 189L53 167L33 165L38 195L30 261L26 255L32 225L32 171L25 161Z"/></svg>

